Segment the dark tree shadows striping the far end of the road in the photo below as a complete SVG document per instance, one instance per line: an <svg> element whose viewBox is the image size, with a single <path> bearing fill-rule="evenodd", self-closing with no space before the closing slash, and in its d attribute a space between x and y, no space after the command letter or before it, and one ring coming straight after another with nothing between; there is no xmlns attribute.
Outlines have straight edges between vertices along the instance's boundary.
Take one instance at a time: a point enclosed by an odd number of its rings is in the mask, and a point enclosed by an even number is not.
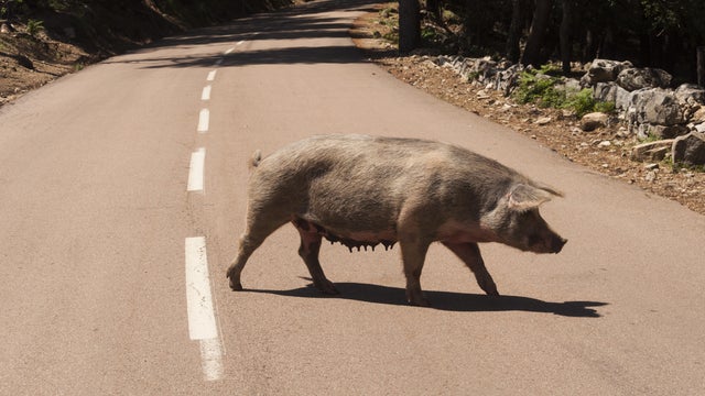
<svg viewBox="0 0 705 396"><path fill-rule="evenodd" d="M280 12L253 15L230 24L194 30L185 35L160 40L155 43L134 51L133 54L144 54L139 57L117 57L105 63L142 64L142 68L172 67L213 67L216 62L224 67L247 65L285 65L285 64L351 64L367 62L362 52L347 43L340 45L322 46L281 46L276 42L301 38L341 38L355 36L349 29L349 21L343 16L326 16L321 12L330 10L360 11L372 10L378 0L355 0L349 3L328 0L295 7ZM236 47L238 42L258 41L269 42L269 46L261 50ZM198 45L230 43L231 53L223 52L206 55L174 55L171 57L150 57L156 48L188 50Z"/></svg>

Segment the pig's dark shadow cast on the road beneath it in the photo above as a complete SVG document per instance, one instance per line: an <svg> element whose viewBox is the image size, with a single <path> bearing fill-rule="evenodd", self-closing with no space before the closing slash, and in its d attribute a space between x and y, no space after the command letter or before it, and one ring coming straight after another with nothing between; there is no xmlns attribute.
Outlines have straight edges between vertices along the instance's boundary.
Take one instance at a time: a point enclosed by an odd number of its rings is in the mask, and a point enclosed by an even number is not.
<svg viewBox="0 0 705 396"><path fill-rule="evenodd" d="M291 290L246 289L252 293L267 293L278 296L302 298L341 298L364 302L408 306L403 288L360 283L336 283L339 295L324 295L308 285ZM597 310L590 307L606 306L599 301L550 302L519 296L489 297L486 295L455 292L425 290L431 309L479 312L479 311L527 311L554 314L565 317L599 318Z"/></svg>

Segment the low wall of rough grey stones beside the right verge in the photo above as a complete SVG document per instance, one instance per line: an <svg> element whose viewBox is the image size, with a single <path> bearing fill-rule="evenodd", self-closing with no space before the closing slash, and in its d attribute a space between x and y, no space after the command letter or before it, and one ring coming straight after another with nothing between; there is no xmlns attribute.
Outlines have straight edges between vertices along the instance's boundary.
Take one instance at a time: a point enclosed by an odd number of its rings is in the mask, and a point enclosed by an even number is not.
<svg viewBox="0 0 705 396"><path fill-rule="evenodd" d="M485 89L500 90L505 96L514 91L524 70L521 65L489 57L442 55L434 63L454 69ZM705 142L705 89L691 84L673 89L673 78L666 72L633 67L629 62L595 59L585 69L579 80L561 78L558 85L574 90L590 88L596 100L614 102L617 117L627 125L622 132L626 136L672 140L674 162L705 164L705 154L693 148L705 146L701 143ZM595 118L595 114L589 116ZM583 124L590 125L588 122ZM663 152L663 143L658 146L659 152Z"/></svg>

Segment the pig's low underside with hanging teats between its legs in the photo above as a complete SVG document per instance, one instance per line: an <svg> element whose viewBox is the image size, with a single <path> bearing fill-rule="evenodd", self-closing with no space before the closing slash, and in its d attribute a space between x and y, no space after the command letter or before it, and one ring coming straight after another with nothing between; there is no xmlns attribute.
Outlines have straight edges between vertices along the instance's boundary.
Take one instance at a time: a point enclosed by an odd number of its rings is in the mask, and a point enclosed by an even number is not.
<svg viewBox="0 0 705 396"><path fill-rule="evenodd" d="M394 231L382 231L382 232L373 232L373 231L357 231L357 232L345 232L345 231L335 231L326 228L325 226L315 223L313 221L308 221L302 219L300 217L295 217L292 220L292 223L297 229L308 232L308 233L317 233L318 235L325 238L330 241L330 243L339 242L340 244L347 246L350 252L352 249L357 249L360 251L360 248L367 250L367 248L371 248L375 250L377 245L382 244L384 250L391 249L397 243L397 234Z"/></svg>

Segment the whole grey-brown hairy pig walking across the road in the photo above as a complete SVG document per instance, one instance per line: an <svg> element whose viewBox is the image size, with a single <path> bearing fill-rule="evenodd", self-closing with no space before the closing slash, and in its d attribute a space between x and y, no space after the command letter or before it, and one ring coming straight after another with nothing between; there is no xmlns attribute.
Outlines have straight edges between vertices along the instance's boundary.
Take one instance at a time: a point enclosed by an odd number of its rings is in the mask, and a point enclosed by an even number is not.
<svg viewBox="0 0 705 396"><path fill-rule="evenodd" d="M318 262L323 238L350 251L399 242L406 300L426 306L421 271L440 242L475 274L479 287L499 296L478 243L558 253L567 242L551 230L539 206L563 195L469 150L420 139L322 135L251 160L247 223L227 271L232 290L252 252L291 222L299 255L313 284L337 294Z"/></svg>

